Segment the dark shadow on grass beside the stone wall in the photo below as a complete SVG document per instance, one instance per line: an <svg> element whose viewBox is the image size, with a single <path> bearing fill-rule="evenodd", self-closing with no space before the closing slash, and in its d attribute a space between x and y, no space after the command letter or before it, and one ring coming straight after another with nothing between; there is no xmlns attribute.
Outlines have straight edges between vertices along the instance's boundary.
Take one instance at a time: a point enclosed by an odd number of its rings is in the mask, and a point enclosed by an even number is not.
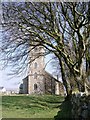
<svg viewBox="0 0 90 120"><path fill-rule="evenodd" d="M57 115L54 117L55 120L70 120L71 118L71 102L68 101L63 101L60 106L60 111L57 113Z"/></svg>

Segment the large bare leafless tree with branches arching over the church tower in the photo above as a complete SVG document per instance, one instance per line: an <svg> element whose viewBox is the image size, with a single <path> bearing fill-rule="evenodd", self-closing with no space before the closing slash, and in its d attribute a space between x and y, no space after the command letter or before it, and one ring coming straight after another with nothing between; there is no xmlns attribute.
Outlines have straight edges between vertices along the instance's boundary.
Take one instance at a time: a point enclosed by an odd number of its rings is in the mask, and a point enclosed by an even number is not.
<svg viewBox="0 0 90 120"><path fill-rule="evenodd" d="M65 88L68 83L64 65L79 91L85 91L87 76L83 64L90 45L88 3L14 2L3 3L2 8L5 59L10 64L13 61L18 65L20 61L25 65L29 52L35 46L43 46L57 57Z"/></svg>

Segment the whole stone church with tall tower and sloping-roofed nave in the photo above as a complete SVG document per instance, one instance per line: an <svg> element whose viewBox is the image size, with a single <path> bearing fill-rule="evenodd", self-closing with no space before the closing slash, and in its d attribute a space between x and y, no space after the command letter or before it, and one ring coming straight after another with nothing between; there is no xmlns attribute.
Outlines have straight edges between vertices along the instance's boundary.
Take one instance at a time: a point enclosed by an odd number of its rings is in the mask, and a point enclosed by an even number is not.
<svg viewBox="0 0 90 120"><path fill-rule="evenodd" d="M63 84L45 71L44 48L37 46L30 52L29 74L20 85L22 94L64 94Z"/></svg>

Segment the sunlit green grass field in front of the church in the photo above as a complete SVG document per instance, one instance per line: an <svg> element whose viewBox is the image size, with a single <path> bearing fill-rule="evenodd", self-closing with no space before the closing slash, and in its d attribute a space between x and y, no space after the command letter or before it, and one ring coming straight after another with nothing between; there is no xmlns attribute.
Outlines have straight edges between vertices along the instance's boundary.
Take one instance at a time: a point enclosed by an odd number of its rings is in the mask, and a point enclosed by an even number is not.
<svg viewBox="0 0 90 120"><path fill-rule="evenodd" d="M2 96L2 117L54 118L63 100L55 95Z"/></svg>

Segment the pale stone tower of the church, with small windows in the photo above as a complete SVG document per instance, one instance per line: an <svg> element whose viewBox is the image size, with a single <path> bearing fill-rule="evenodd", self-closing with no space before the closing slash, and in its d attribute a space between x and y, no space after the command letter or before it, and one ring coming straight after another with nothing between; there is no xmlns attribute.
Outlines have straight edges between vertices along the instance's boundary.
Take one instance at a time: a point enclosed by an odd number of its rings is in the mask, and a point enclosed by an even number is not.
<svg viewBox="0 0 90 120"><path fill-rule="evenodd" d="M28 76L28 94L44 94L44 48L37 46L30 52L30 70Z"/></svg>

